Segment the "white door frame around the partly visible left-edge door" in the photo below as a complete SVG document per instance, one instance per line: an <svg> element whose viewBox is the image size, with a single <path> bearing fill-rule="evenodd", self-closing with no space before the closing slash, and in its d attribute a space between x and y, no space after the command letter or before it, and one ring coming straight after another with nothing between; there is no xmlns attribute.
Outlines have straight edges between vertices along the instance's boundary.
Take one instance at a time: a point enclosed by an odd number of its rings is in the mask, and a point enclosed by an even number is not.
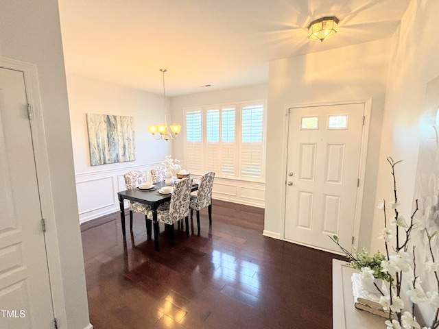
<svg viewBox="0 0 439 329"><path fill-rule="evenodd" d="M50 184L49 158L47 156L43 107L41 106L37 67L35 64L29 64L1 56L0 67L23 72L27 102L32 106L33 119L29 120L29 123L32 132L32 144L34 147L41 212L47 226L47 231L44 236L54 316L60 328L67 328L67 316L63 292L64 288L62 287L62 271L58 249L58 235L56 234L55 210L54 203L52 202L53 197Z"/></svg>

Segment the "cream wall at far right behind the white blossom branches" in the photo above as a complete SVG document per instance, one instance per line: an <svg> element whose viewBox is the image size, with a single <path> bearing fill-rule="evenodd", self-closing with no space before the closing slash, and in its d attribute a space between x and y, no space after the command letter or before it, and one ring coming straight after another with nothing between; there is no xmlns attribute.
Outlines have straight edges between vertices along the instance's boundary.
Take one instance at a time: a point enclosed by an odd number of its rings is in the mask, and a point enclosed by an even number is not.
<svg viewBox="0 0 439 329"><path fill-rule="evenodd" d="M377 184L377 202L393 200L388 156L403 160L397 167L399 202L406 218L411 215L414 198L416 166L419 149L419 121L424 109L427 83L439 76L439 42L431 38L435 17L439 15L439 1L413 0L394 36L390 60L389 80L383 117L383 133ZM375 212L373 236L383 226L383 214ZM373 247L381 241L373 239Z"/></svg>

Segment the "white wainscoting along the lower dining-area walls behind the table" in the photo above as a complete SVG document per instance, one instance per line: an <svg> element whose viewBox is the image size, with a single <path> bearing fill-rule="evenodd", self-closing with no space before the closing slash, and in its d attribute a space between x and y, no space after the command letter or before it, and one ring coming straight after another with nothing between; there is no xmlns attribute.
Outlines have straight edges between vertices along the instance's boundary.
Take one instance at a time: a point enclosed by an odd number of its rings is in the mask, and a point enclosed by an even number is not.
<svg viewBox="0 0 439 329"><path fill-rule="evenodd" d="M151 180L150 169L160 163L149 163L117 169L105 169L75 175L80 223L119 211L117 192L126 189L123 175L131 170L143 171L146 180ZM193 175L198 180L200 175ZM263 208L265 206L265 184L215 177L213 199L235 202ZM128 204L126 203L127 207Z"/></svg>

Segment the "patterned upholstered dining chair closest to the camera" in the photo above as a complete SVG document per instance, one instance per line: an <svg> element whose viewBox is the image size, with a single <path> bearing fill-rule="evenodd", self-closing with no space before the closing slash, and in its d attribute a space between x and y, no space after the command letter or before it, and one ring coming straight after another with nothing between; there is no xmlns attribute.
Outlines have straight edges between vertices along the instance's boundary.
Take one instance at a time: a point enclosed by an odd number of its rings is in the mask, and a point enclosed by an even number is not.
<svg viewBox="0 0 439 329"><path fill-rule="evenodd" d="M189 236L189 202L192 190L192 178L183 178L174 184L171 202L161 204L157 209L157 221L165 223L169 231L171 247L174 247L174 223L185 218L186 235ZM153 220L153 211L147 211L147 218Z"/></svg>

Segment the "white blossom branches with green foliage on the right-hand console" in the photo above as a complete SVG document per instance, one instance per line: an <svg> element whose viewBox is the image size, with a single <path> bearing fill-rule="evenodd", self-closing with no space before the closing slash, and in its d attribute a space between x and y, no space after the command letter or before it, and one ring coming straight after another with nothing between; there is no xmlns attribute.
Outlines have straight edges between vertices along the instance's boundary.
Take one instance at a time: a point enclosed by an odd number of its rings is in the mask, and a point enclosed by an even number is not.
<svg viewBox="0 0 439 329"><path fill-rule="evenodd" d="M439 328L439 262L436 260L438 246L436 245L437 231L431 232L431 228L423 226L418 218L418 200L416 200L416 209L410 217L410 221L399 213L398 197L396 193L396 176L394 167L401 161L396 161L388 157L388 162L392 167L392 178L394 187L394 202L386 203L385 200L380 202L378 208L383 210L384 228L379 234L379 239L383 239L385 244L385 254L378 257L368 256L366 249L363 248L363 255L359 257L357 253L349 253L342 247L337 236L331 239L340 246L351 262L351 266L361 271L362 278L366 280L373 278L383 278L388 284L389 293L383 294L379 303L384 310L389 310L389 319L385 321L386 329L438 329ZM390 227L388 226L388 212L392 212L390 219ZM410 236L412 232L420 232L425 234L428 258L425 263L425 272L427 276L436 284L438 291L425 291L423 289L423 280L416 273L416 245L410 245ZM391 245L392 243L392 245ZM376 253L376 254L377 254ZM365 256L366 255L366 256ZM361 255L360 255L361 256ZM364 259L370 260L366 267ZM371 266L371 264L373 266ZM372 271L372 269L374 269ZM377 273L379 272L379 273ZM433 284L433 285L435 285ZM375 284L376 286L376 284ZM378 288L378 287L377 287ZM410 305L405 305L404 297L410 300ZM408 302L407 300L407 302ZM421 328L416 317L414 316L414 308L416 304L428 303L434 310L433 319L430 326Z"/></svg>

